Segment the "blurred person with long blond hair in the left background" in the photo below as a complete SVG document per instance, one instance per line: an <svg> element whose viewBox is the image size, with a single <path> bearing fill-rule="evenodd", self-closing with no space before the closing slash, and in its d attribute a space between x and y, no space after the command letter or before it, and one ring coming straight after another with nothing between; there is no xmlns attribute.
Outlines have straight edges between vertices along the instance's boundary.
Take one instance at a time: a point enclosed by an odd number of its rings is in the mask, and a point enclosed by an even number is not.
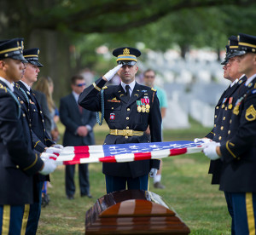
<svg viewBox="0 0 256 235"><path fill-rule="evenodd" d="M52 140L58 141L60 139L60 134L56 123L59 121L59 112L55 106L54 100L52 99L54 83L50 77L40 77L35 85L35 89L44 93L46 96L50 117L50 126L48 125L46 130L49 131L49 135L51 136Z"/></svg>

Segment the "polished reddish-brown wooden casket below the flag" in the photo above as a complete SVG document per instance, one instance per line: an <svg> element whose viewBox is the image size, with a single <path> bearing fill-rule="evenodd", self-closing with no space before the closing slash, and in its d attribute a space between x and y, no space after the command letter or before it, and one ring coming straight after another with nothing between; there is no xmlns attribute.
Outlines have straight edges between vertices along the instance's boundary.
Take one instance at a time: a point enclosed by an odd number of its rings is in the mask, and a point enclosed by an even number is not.
<svg viewBox="0 0 256 235"><path fill-rule="evenodd" d="M154 192L124 190L98 198L86 212L85 234L189 234L189 227Z"/></svg>

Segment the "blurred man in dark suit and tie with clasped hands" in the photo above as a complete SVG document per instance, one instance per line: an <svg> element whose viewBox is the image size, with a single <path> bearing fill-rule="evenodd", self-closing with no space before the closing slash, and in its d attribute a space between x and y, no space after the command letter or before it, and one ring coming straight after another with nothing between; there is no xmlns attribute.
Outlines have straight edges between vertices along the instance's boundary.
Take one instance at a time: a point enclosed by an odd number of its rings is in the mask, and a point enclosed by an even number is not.
<svg viewBox="0 0 256 235"><path fill-rule="evenodd" d="M93 127L96 124L96 112L85 110L78 104L79 95L85 88L84 77L80 75L71 78L72 94L61 99L60 118L66 127L64 146L90 146L95 144ZM75 165L66 165L66 194L68 199L73 199ZM90 182L88 164L79 164L79 186L81 197L90 195Z"/></svg>

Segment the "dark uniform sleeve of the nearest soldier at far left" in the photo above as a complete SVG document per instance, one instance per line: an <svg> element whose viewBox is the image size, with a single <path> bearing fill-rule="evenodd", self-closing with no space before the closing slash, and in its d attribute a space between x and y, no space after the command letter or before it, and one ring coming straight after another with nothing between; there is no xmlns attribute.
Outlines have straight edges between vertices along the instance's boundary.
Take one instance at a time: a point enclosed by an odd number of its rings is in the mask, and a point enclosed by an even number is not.
<svg viewBox="0 0 256 235"><path fill-rule="evenodd" d="M43 161L27 145L23 127L17 117L17 105L10 95L1 95L0 103L0 139L8 151L7 161L20 167L27 175L33 175L43 167Z"/></svg>

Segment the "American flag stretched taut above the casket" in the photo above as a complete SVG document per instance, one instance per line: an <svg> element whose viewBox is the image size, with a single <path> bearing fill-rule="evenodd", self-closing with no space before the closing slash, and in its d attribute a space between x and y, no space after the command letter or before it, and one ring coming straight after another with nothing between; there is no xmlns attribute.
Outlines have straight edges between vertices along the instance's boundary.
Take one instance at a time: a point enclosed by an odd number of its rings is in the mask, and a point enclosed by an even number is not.
<svg viewBox="0 0 256 235"><path fill-rule="evenodd" d="M186 153L201 152L202 142L189 140L129 143L102 146L67 146L56 158L57 164L123 163L146 159L159 159Z"/></svg>

